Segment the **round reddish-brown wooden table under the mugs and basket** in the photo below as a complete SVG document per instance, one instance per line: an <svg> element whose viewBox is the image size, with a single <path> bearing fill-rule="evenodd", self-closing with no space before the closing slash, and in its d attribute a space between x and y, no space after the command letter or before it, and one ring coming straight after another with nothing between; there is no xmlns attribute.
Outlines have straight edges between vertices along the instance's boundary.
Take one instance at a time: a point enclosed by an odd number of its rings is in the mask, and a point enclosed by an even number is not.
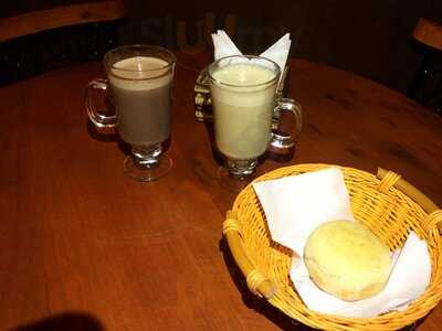
<svg viewBox="0 0 442 331"><path fill-rule="evenodd" d="M246 290L221 239L234 195L217 183L192 99L209 56L178 58L175 164L152 183L125 177L117 143L87 126L82 93L103 76L99 63L0 89L1 330L39 321L41 330L296 328ZM290 94L305 122L290 163L381 166L442 204L441 117L359 76L299 60L291 66ZM441 322L436 308L421 330Z"/></svg>

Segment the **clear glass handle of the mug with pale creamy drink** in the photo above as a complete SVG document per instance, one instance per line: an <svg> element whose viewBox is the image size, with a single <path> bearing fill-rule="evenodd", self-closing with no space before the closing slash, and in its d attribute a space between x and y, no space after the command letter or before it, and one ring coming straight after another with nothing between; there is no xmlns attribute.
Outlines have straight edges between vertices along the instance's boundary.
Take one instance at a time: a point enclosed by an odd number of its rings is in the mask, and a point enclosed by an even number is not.
<svg viewBox="0 0 442 331"><path fill-rule="evenodd" d="M292 118L292 124L287 122L288 117ZM273 109L270 150L277 153L288 152L295 146L302 128L303 111L301 105L291 98L277 99L276 107Z"/></svg>

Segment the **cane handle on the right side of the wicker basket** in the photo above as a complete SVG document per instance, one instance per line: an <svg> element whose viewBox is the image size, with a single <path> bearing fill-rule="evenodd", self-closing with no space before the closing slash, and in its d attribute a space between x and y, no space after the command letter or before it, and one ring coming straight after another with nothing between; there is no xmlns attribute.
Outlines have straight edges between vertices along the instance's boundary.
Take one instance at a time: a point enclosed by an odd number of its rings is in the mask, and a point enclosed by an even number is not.
<svg viewBox="0 0 442 331"><path fill-rule="evenodd" d="M378 168L377 177L380 180L385 180L388 177L394 177L394 173L386 169ZM429 214L423 224L428 232L436 228L435 226L438 226L439 233L442 233L442 211L430 197L400 177L394 177L391 183L394 185L394 188L410 196Z"/></svg>

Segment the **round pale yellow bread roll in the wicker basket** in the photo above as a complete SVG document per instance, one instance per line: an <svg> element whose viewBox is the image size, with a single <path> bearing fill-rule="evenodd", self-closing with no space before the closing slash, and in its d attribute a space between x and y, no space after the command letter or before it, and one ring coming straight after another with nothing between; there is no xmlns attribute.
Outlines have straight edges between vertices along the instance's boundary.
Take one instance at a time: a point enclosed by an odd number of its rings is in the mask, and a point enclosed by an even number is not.
<svg viewBox="0 0 442 331"><path fill-rule="evenodd" d="M346 301L380 292L391 269L388 247L364 224L352 221L319 225L307 239L304 261L320 289Z"/></svg>

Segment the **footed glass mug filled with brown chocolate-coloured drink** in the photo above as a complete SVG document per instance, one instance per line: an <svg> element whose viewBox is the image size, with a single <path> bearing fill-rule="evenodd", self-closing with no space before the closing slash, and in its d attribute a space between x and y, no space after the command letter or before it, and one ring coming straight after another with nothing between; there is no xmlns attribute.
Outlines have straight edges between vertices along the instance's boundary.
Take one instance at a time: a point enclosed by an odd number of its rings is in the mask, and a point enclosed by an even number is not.
<svg viewBox="0 0 442 331"><path fill-rule="evenodd" d="M161 143L170 137L171 88L176 57L162 47L127 45L104 56L107 79L94 79L85 88L85 107L98 128L116 128L131 147L124 162L126 174L152 181L169 172L172 161ZM116 114L106 116L95 107L93 90L107 92Z"/></svg>

